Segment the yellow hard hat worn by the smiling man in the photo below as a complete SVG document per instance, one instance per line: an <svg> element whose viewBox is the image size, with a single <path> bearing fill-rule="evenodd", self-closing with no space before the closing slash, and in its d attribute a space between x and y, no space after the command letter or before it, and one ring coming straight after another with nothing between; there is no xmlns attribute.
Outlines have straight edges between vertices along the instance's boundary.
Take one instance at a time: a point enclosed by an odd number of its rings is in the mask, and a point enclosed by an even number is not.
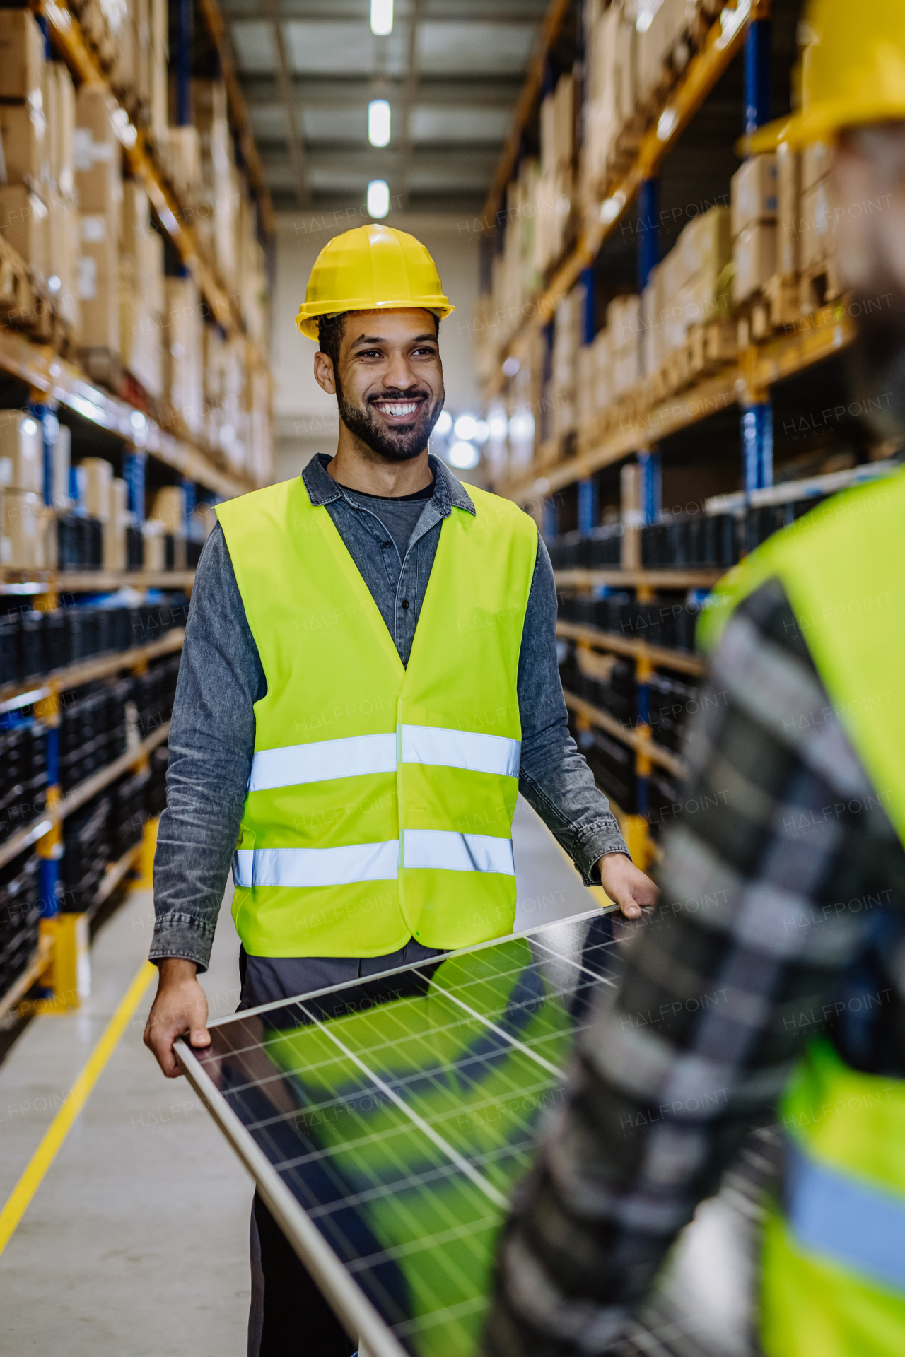
<svg viewBox="0 0 905 1357"><path fill-rule="evenodd" d="M296 324L316 339L320 316L412 307L436 311L441 320L456 309L426 247L395 227L354 227L334 236L315 259Z"/></svg>

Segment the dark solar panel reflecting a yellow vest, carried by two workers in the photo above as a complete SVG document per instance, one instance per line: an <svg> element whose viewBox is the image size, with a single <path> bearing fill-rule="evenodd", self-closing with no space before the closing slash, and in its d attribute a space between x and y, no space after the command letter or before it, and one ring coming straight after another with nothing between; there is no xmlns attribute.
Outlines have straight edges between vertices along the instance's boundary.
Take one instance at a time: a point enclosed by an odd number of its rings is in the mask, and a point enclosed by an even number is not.
<svg viewBox="0 0 905 1357"><path fill-rule="evenodd" d="M608 915L210 1023L191 1084L368 1357L467 1357L510 1193L594 996Z"/></svg>

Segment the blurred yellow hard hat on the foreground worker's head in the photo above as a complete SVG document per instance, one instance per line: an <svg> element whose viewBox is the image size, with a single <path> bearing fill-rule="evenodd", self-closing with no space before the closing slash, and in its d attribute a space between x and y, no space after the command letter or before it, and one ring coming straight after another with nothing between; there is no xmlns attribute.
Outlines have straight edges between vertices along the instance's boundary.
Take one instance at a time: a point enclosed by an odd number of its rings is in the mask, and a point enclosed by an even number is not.
<svg viewBox="0 0 905 1357"><path fill-rule="evenodd" d="M758 128L745 152L833 141L843 128L905 119L904 0L810 0L799 28L802 107Z"/></svg>

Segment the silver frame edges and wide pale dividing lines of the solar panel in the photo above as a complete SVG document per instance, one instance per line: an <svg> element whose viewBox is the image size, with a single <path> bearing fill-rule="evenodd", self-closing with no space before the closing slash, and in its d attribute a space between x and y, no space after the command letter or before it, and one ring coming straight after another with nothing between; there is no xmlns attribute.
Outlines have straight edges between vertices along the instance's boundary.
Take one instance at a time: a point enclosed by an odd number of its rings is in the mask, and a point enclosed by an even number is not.
<svg viewBox="0 0 905 1357"><path fill-rule="evenodd" d="M509 934L505 938L495 938L490 942L479 943L475 947L463 947L456 951L444 953L438 959L448 962L456 957L469 957L491 947L501 947L503 943L513 943L518 939L526 939L529 942L537 940L543 950L548 953L551 961L562 959L579 972L583 972L585 976L590 976L592 980L598 984L612 984L612 980L608 980L608 977L597 974L594 970L590 970L588 966L582 966L579 962L558 953L552 947L544 947L539 935L543 936L544 932L554 928L562 928L564 925L575 927L588 923L590 927L592 921L600 919L601 915L616 913L617 911L617 905L605 906L604 909L590 909L585 913L556 920L551 924L522 930L517 934ZM431 962L417 962L414 965L395 966L374 976L368 976L364 980L357 978L345 981L341 985L316 989L294 999L282 999L269 1004L261 1004L255 1008L246 1008L242 1010L242 1012L213 1019L208 1026L220 1027L228 1023L235 1023L236 1019L246 1020L261 1014L285 1008L289 1004L297 1006L305 1014L309 1023L322 1029L326 1035L341 1048L345 1057L350 1058L357 1068L360 1068L362 1073L365 1073L366 1077L374 1083L374 1087L380 1087L391 1102L400 1106L404 1115L410 1118L418 1129L421 1129L422 1134L426 1134L427 1139L430 1139L434 1145L441 1149L441 1153L452 1164L471 1178L472 1185L478 1186L479 1190L482 1190L490 1201L495 1202L498 1208L505 1209L507 1198L505 1198L503 1194L501 1194L490 1182L483 1181L478 1183L476 1178L483 1179L483 1174L479 1174L479 1171L475 1170L468 1160L464 1160L455 1147L445 1140L445 1137L440 1137L438 1133L436 1133L434 1129L418 1115L411 1105L404 1105L389 1084L385 1083L381 1076L370 1069L360 1057L357 1057L354 1052L345 1048L343 1042L335 1035L335 1033L331 1033L327 1025L323 1023L311 1010L311 1001L322 996L332 996L341 993L342 991L361 988L362 984L384 981L388 977L398 974L412 972L421 974L430 965ZM499 1025L494 1023L493 1019L488 1019L476 1010L472 1010L467 1003L459 1000L450 991L445 991L442 987L436 988L438 993L441 993L445 999L452 1000L476 1022L493 1030L495 1035L505 1041L513 1050L518 1050L525 1058L535 1061L539 1069L545 1069L548 1073L555 1075L558 1080L563 1077L563 1071L559 1067L545 1060L537 1052L531 1050L529 1046L522 1044L517 1037L507 1033ZM204 1068L202 1061L185 1038L180 1038L174 1045L174 1054L189 1083L202 1099L204 1105L210 1111L239 1159L254 1178L261 1197L280 1224L280 1228L301 1259L303 1265L308 1269L313 1281L336 1314L338 1319L353 1338L358 1338L360 1349L366 1349L368 1357L410 1357L408 1350L399 1342L389 1324L379 1314L374 1304L354 1280L351 1272L330 1246L324 1234L322 1234L319 1227L315 1224L315 1220L305 1212L290 1187L282 1181L278 1170L269 1160L265 1151L256 1144L251 1132L246 1128L237 1113L229 1106L225 1095L220 1088L217 1088L213 1079Z"/></svg>

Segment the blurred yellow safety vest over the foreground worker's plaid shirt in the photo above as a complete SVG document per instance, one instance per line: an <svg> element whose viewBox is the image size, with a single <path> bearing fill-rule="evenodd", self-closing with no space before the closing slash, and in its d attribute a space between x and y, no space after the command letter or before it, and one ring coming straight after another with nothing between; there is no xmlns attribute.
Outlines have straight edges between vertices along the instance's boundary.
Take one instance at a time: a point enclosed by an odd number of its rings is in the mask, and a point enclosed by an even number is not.
<svg viewBox="0 0 905 1357"><path fill-rule="evenodd" d="M905 472L837 495L731 571L701 620L779 578L839 719L905 841ZM780 1107L784 1202L768 1216L768 1357L905 1353L905 1082L811 1044Z"/></svg>

